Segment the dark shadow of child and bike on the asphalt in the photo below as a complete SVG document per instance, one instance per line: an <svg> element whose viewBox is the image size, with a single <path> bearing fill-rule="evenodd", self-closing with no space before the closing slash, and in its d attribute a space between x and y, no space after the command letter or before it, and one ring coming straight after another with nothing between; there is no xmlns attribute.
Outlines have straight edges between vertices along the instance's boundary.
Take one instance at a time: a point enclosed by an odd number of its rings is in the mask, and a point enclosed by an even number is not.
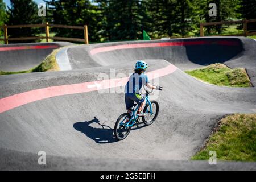
<svg viewBox="0 0 256 182"><path fill-rule="evenodd" d="M92 127L93 123L97 123L98 127ZM73 125L74 129L81 131L96 143L113 143L117 142L114 137L114 130L108 125L102 125L100 121L94 117L91 121L77 122Z"/></svg>

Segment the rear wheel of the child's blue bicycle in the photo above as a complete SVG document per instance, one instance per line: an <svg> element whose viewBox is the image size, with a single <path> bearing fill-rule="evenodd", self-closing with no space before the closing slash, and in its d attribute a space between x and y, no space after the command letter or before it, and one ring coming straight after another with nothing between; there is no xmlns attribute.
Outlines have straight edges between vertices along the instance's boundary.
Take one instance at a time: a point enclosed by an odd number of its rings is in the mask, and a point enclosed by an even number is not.
<svg viewBox="0 0 256 182"><path fill-rule="evenodd" d="M128 113L123 113L118 117L117 122L115 122L114 133L118 140L123 140L129 135L131 127L125 127L125 124L129 119L130 115Z"/></svg>

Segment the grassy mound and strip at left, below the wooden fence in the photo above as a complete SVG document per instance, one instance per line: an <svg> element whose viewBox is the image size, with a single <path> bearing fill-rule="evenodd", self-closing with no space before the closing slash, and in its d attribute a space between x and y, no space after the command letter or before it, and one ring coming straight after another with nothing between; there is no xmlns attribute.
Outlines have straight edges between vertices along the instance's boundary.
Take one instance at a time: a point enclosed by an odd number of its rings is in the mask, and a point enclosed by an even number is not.
<svg viewBox="0 0 256 182"><path fill-rule="evenodd" d="M0 75L10 75L10 74L18 74L18 73L31 73L31 72L46 72L46 71L58 71L59 65L57 64L57 61L55 59L56 53L59 51L59 49L55 49L52 51L51 54L49 54L46 59L42 61L38 66L35 68L31 68L25 71L16 71L16 72L5 72L0 71Z"/></svg>

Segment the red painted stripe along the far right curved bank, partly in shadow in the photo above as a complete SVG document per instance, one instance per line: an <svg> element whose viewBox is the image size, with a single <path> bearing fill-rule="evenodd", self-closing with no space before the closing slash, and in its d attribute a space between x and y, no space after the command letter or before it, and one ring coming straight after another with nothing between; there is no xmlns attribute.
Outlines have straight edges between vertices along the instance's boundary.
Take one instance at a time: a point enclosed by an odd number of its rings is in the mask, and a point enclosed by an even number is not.
<svg viewBox="0 0 256 182"><path fill-rule="evenodd" d="M146 47L166 47L166 46L192 46L192 45L204 45L204 44L218 44L225 46L238 46L238 42L233 40L197 40L197 41L185 41L185 42L159 42L159 43L138 43L138 44L123 44L117 46L107 46L94 48L90 51L91 55L95 55L100 52L114 51L118 49L131 49L131 48L146 48Z"/></svg>

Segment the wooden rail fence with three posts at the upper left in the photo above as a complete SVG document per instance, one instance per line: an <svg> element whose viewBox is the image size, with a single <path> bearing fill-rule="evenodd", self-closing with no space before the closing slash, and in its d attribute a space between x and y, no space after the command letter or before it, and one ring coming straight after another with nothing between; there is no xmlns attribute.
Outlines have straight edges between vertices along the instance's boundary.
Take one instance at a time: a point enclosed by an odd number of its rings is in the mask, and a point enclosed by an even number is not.
<svg viewBox="0 0 256 182"><path fill-rule="evenodd" d="M22 37L22 38L8 38L8 28L39 28L44 27L46 36L32 36L32 37ZM56 36L49 36L49 28L56 27L56 28L69 28L69 29L79 29L84 30L84 39L79 38L64 38L64 37L56 37ZM8 44L8 40L37 40L37 39L46 39L46 42L49 42L49 39L53 40L64 40L64 41L77 41L77 42L84 42L85 44L89 44L88 40L88 28L87 25L84 26L69 26L69 25L62 25L62 24L49 24L48 22L44 24L20 24L20 25L3 25L0 26L3 28L3 40L5 44Z"/></svg>

